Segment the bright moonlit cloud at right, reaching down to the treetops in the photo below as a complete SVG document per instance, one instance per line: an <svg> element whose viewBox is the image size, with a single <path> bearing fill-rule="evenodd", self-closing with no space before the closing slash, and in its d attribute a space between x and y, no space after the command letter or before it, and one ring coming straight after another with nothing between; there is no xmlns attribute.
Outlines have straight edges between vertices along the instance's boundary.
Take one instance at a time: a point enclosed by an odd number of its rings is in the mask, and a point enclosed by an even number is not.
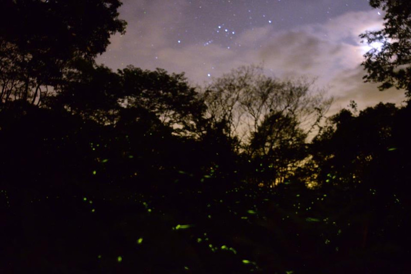
<svg viewBox="0 0 411 274"><path fill-rule="evenodd" d="M316 77L335 98L330 114L346 107L350 100L359 108L379 102L401 104L404 91L391 88L378 90L377 83L364 83L361 67L367 45L359 34L382 27L382 18L375 11L350 12L326 24L312 24L277 33L259 56L279 76L307 75Z"/></svg>

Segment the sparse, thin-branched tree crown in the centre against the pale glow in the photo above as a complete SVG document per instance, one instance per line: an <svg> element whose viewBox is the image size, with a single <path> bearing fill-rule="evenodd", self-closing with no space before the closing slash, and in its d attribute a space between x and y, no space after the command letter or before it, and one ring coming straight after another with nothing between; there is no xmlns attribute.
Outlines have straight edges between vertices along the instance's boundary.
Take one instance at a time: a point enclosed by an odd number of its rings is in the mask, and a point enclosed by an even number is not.
<svg viewBox="0 0 411 274"><path fill-rule="evenodd" d="M212 122L225 121L227 134L237 136L243 149L253 133L272 113L296 119L310 132L331 103L324 94L314 94L307 79L279 81L264 75L258 66L239 67L206 87L204 101Z"/></svg>

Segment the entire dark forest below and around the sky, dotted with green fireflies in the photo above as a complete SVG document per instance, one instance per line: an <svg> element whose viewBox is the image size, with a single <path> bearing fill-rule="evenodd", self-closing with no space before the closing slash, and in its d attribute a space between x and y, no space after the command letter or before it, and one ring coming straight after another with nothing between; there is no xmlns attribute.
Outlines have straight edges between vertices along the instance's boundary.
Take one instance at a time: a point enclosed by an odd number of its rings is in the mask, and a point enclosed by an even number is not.
<svg viewBox="0 0 411 274"><path fill-rule="evenodd" d="M113 71L120 5L0 2L0 272L409 273L409 100L326 116L259 66ZM365 80L409 99L411 5L370 5Z"/></svg>

